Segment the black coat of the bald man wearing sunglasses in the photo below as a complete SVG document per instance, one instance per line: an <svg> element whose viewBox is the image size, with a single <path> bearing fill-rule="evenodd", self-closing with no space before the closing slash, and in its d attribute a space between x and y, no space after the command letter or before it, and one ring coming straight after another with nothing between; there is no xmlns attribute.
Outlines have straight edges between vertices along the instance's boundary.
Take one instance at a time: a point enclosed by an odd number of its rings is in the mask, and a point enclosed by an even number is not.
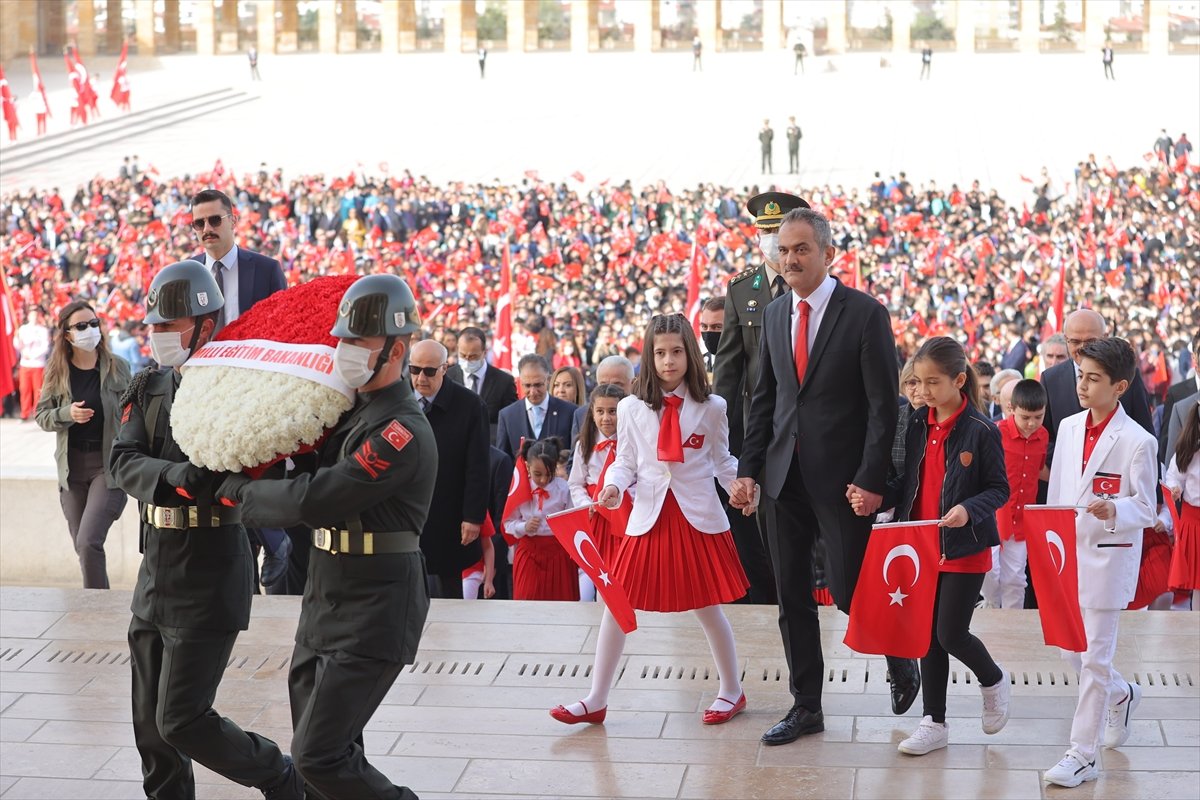
<svg viewBox="0 0 1200 800"><path fill-rule="evenodd" d="M462 523L482 523L490 497L487 411L469 389L442 383L426 415L438 443L438 480L421 529L430 572L470 566L482 557L479 541L463 547Z"/></svg>

